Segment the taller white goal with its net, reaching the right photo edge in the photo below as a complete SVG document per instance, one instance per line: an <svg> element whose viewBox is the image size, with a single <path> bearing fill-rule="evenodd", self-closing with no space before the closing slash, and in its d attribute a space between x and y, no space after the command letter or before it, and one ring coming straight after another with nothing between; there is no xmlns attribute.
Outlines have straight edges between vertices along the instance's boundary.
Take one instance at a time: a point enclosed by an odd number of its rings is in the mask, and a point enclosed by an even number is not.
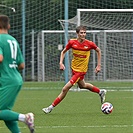
<svg viewBox="0 0 133 133"><path fill-rule="evenodd" d="M64 30L75 30L77 25L85 25L88 33L91 32L87 39L94 41L102 50L102 71L98 76L89 75L88 80L132 80L132 9L78 9L74 18L59 21ZM66 36L73 38L73 34ZM89 66L89 74L94 72L97 63L94 53L92 55L89 65L93 67Z"/></svg>

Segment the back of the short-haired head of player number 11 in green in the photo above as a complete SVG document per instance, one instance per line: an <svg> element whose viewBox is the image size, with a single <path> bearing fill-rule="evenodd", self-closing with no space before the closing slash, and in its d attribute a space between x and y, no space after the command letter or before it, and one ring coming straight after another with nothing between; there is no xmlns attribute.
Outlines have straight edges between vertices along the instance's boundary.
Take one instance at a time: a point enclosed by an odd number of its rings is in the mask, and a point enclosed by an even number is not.
<svg viewBox="0 0 133 133"><path fill-rule="evenodd" d="M9 17L6 15L0 15L0 29L8 30Z"/></svg>

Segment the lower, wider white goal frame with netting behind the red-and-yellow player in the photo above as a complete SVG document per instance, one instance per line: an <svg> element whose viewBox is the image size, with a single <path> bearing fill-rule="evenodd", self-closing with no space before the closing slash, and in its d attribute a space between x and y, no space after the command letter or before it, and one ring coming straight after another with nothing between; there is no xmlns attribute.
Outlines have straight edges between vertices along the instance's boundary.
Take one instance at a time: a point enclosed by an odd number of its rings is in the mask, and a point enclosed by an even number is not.
<svg viewBox="0 0 133 133"><path fill-rule="evenodd" d="M64 81L60 77L59 57L64 45L64 31L41 31L38 34L38 81ZM75 30L68 31L68 39L76 38ZM129 81L133 75L133 30L92 30L87 39L94 41L102 50L102 70L96 75L97 59L91 52L86 81ZM69 52L70 66L72 54ZM68 78L71 68L68 68Z"/></svg>

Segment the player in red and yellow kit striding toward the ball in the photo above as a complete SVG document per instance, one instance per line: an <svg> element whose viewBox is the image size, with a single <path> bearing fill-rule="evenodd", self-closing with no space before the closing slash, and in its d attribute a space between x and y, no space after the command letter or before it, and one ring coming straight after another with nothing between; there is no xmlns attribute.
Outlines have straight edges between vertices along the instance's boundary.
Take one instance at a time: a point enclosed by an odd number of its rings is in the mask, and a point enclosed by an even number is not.
<svg viewBox="0 0 133 133"><path fill-rule="evenodd" d="M80 89L87 89L91 92L95 92L99 94L101 103L105 100L106 90L100 90L98 87L86 83L84 80L85 74L88 70L88 62L90 57L90 50L94 49L97 53L97 66L95 68L95 73L98 73L101 70L101 50L100 48L92 41L86 39L86 27L78 26L76 28L77 39L69 40L66 47L63 49L60 55L60 69L64 70L65 66L63 64L63 60L65 57L65 53L71 48L73 53L73 59L71 63L72 68L72 77L70 81L62 88L61 93L58 97L53 101L53 103L42 110L44 113L50 113L55 106L57 106L66 96L69 89L77 83Z"/></svg>

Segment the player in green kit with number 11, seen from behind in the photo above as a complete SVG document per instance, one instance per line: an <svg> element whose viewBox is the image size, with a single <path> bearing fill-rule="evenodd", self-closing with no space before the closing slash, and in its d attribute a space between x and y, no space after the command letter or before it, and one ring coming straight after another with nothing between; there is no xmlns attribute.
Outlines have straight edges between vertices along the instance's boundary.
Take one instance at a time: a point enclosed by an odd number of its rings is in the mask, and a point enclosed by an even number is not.
<svg viewBox="0 0 133 133"><path fill-rule="evenodd" d="M24 59L17 40L8 34L9 29L8 16L0 15L0 120L11 133L20 133L18 121L24 122L30 133L34 133L33 113L12 111L23 84L19 71L24 69Z"/></svg>

